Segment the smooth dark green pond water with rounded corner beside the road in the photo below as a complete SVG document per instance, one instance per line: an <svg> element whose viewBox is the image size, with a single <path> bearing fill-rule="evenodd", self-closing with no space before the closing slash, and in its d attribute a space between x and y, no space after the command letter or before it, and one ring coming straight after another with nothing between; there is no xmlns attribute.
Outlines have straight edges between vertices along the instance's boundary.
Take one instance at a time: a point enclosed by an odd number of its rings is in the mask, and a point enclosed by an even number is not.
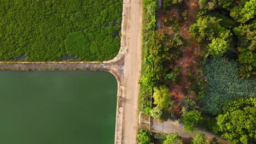
<svg viewBox="0 0 256 144"><path fill-rule="evenodd" d="M0 143L113 144L117 81L103 71L0 71Z"/></svg>

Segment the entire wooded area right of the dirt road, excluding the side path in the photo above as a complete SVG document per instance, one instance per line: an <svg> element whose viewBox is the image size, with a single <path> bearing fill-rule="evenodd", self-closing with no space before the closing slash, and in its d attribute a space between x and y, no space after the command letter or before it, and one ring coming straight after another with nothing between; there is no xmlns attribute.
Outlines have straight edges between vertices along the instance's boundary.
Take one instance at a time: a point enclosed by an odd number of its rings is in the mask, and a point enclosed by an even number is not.
<svg viewBox="0 0 256 144"><path fill-rule="evenodd" d="M255 0L163 0L161 9L143 0L139 110L189 133L256 143L255 11ZM141 129L137 143L218 141Z"/></svg>

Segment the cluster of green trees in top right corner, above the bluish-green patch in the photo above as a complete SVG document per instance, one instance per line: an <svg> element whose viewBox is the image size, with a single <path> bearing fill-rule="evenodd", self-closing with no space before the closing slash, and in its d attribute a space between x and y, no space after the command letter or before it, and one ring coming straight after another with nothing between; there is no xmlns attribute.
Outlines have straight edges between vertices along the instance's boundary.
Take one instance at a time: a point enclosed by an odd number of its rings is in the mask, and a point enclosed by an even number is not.
<svg viewBox="0 0 256 144"><path fill-rule="evenodd" d="M190 27L194 38L198 37L200 42L208 45L206 52L210 55L222 56L226 52L225 56L228 56L230 52L235 53L238 55L240 76L243 79L255 78L256 1L241 0L234 3L231 0L201 0L199 4L201 17ZM214 9L228 10L234 20L216 13ZM211 16L206 15L207 11L211 12ZM240 25L236 25L234 21Z"/></svg>

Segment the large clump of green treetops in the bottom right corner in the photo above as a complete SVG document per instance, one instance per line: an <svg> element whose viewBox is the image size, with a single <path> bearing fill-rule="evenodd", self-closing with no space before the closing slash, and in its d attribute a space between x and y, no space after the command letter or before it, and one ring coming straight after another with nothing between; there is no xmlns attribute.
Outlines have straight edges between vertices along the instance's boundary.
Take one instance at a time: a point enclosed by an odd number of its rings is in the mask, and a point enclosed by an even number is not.
<svg viewBox="0 0 256 144"><path fill-rule="evenodd" d="M222 137L235 143L255 142L256 139L256 100L238 99L231 101L219 115L217 124Z"/></svg>

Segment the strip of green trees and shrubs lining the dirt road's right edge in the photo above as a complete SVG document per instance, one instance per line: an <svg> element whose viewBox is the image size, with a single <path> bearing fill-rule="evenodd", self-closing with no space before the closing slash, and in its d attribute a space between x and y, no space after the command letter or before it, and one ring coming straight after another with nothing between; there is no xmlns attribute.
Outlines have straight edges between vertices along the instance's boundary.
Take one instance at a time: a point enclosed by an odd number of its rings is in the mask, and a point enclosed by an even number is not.
<svg viewBox="0 0 256 144"><path fill-rule="evenodd" d="M149 115L150 103L147 98L150 97L152 88L157 91L157 87L166 87L165 93L168 93L168 81L178 79L178 68L168 68L168 64L174 63L181 56L179 47L183 45L181 36L165 34L163 31L155 31L155 15L157 10L157 1L143 1L143 59L141 71L141 90L139 94L140 109ZM154 13L152 12L154 11ZM154 92L153 91L153 92ZM155 95L155 94L154 94ZM161 95L160 95L161 96ZM162 95L163 96L163 95ZM156 98L153 96L153 98ZM165 100L154 99L154 106L168 105L167 107L156 107L153 109L155 118L166 119L168 116L160 116L165 113L173 115L170 95ZM168 101L166 101L168 100ZM159 108L162 112L159 112ZM167 116L167 117L166 117Z"/></svg>

